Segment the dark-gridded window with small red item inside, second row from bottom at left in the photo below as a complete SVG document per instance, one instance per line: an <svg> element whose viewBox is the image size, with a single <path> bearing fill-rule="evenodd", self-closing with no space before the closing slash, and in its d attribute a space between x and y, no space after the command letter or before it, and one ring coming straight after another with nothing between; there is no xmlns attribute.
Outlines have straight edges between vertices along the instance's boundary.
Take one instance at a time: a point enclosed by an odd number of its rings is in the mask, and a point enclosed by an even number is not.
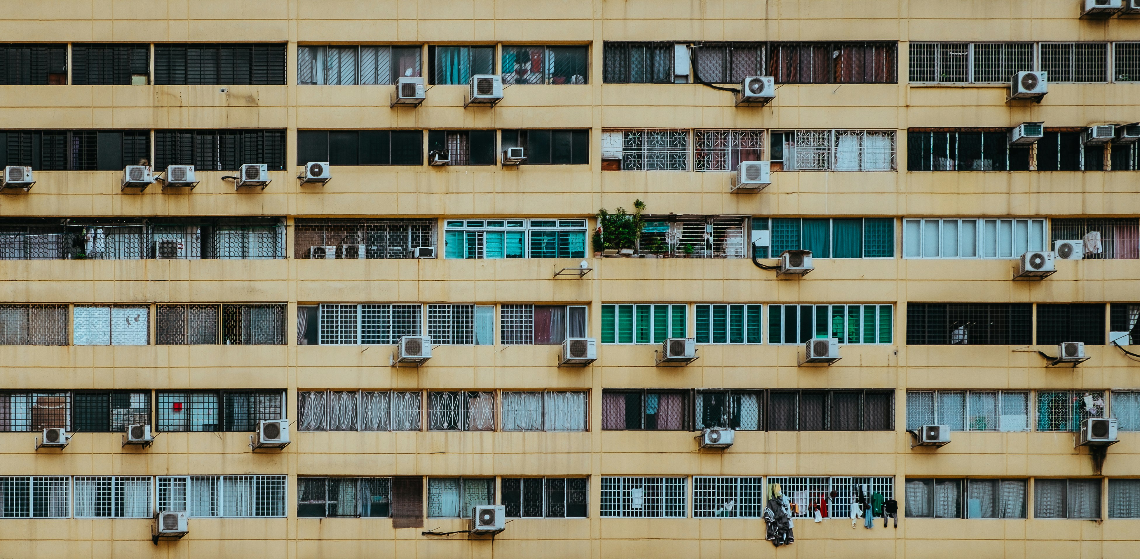
<svg viewBox="0 0 1140 559"><path fill-rule="evenodd" d="M254 431L259 421L285 419L283 390L178 391L156 397L161 432Z"/></svg>

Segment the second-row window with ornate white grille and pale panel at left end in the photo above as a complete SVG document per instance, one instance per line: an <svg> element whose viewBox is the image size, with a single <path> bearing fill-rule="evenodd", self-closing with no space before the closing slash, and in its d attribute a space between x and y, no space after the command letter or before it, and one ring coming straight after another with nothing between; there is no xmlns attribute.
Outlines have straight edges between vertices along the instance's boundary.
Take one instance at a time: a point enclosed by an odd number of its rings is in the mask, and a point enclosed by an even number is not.
<svg viewBox="0 0 1140 559"><path fill-rule="evenodd" d="M687 171L689 130L603 130L602 169Z"/></svg>

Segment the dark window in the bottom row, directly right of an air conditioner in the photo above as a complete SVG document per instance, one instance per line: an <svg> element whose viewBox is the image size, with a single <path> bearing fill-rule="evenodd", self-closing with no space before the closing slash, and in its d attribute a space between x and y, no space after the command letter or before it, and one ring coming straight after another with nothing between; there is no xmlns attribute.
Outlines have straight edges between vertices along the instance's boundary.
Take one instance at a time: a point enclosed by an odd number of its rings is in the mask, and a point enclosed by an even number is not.
<svg viewBox="0 0 1140 559"><path fill-rule="evenodd" d="M507 518L586 518L586 478L503 478Z"/></svg>

